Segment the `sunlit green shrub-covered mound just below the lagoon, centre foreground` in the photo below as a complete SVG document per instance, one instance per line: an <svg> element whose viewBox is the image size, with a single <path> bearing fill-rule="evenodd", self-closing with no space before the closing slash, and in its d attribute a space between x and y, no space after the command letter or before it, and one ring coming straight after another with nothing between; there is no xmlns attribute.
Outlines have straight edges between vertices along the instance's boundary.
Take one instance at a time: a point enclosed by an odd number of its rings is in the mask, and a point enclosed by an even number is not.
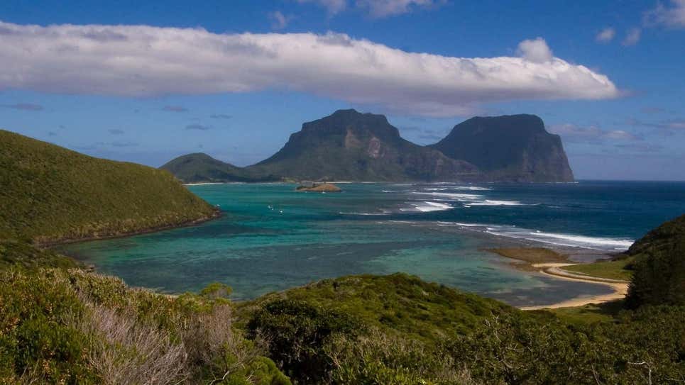
<svg viewBox="0 0 685 385"><path fill-rule="evenodd" d="M520 312L499 301L402 273L324 279L241 306L251 308L283 299L336 308L366 325L432 342L466 333L493 315Z"/></svg>

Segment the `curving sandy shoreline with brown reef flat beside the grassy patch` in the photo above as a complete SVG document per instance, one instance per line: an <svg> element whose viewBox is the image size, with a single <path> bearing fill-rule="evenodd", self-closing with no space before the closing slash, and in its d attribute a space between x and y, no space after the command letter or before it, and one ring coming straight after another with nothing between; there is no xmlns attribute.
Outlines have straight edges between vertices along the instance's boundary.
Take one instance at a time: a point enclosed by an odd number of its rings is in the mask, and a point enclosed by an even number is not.
<svg viewBox="0 0 685 385"><path fill-rule="evenodd" d="M591 303L605 303L623 299L625 298L625 295L628 294L628 281L592 277L589 275L577 274L561 269L562 267L573 266L582 263L569 260L566 255L560 254L557 252L557 250L550 250L542 247L515 247L487 249L487 251L515 261L510 263L510 266L514 267L515 269L520 269L526 272L537 272L538 274L543 274L547 277L563 279L565 281L576 281L586 284L600 284L613 289L613 293L610 294L577 296L575 298L570 298L547 305L520 306L519 309L523 311L570 308L576 306L585 306Z"/></svg>

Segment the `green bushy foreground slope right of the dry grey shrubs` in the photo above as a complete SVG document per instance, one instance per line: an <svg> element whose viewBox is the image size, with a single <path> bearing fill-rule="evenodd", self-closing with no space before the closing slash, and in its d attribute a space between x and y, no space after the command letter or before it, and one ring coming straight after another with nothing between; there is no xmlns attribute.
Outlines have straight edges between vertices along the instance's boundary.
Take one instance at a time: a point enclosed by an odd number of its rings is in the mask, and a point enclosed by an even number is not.
<svg viewBox="0 0 685 385"><path fill-rule="evenodd" d="M685 380L685 307L576 322L405 274L329 279L239 308L297 384L634 384Z"/></svg>

